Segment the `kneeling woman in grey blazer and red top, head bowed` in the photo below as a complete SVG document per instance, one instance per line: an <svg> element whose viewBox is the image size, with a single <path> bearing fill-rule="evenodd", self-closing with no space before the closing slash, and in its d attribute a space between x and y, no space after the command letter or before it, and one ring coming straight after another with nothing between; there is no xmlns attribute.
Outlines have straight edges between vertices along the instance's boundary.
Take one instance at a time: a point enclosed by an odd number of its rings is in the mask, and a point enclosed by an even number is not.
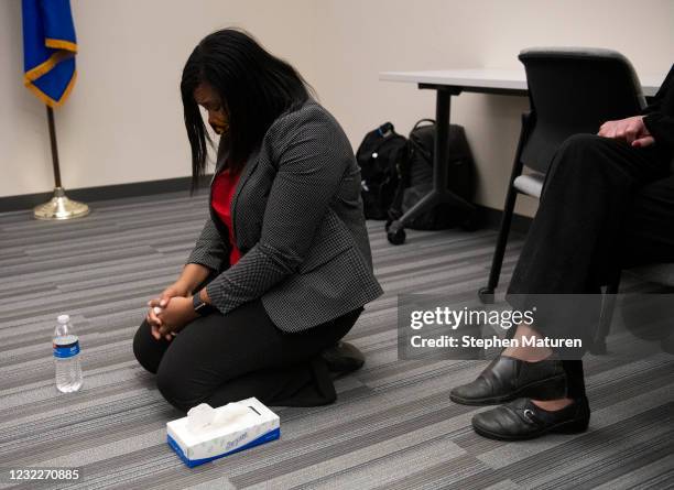
<svg viewBox="0 0 674 490"><path fill-rule="evenodd" d="M178 280L150 301L135 357L182 411L331 403L335 372L359 367L339 339L382 294L351 146L297 72L235 30L198 44L181 91L193 188L207 156L199 106L221 134L209 217Z"/></svg>

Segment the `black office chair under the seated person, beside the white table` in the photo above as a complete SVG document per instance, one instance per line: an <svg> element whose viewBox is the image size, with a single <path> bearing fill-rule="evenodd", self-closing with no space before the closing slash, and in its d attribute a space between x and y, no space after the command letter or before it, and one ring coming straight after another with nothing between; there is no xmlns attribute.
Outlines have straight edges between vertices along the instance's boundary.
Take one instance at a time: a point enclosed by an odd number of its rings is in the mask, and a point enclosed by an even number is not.
<svg viewBox="0 0 674 490"><path fill-rule="evenodd" d="M529 48L520 53L519 59L526 72L531 111L522 116L489 282L479 291L482 303L493 303L518 195L541 197L545 174L559 144L573 134L596 134L605 121L634 116L645 107L632 65L618 52ZM615 293L617 287L616 281L607 292Z"/></svg>

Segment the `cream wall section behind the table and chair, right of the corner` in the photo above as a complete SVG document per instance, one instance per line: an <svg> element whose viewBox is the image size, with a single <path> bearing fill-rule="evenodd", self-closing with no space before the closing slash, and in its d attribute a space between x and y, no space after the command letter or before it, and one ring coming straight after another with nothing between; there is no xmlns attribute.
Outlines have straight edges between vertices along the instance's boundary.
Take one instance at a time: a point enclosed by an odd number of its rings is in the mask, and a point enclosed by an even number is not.
<svg viewBox="0 0 674 490"><path fill-rule="evenodd" d="M319 0L317 88L354 144L391 120L406 133L434 116L434 92L379 81L383 70L517 68L523 47L586 45L627 55L638 73L674 63L674 1ZM478 202L502 209L525 97L464 94L452 120L466 128L479 170ZM520 213L535 203L519 199ZM533 199L532 199L533 200Z"/></svg>

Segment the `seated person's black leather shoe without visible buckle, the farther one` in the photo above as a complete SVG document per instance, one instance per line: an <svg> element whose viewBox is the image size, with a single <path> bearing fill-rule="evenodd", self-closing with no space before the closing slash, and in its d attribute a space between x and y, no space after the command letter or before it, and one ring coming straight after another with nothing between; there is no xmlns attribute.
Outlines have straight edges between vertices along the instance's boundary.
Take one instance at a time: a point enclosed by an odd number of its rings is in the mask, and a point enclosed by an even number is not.
<svg viewBox="0 0 674 490"><path fill-rule="evenodd" d="M526 362L500 356L471 383L456 386L449 399L464 405L498 405L520 398L556 400L566 396L562 361Z"/></svg>

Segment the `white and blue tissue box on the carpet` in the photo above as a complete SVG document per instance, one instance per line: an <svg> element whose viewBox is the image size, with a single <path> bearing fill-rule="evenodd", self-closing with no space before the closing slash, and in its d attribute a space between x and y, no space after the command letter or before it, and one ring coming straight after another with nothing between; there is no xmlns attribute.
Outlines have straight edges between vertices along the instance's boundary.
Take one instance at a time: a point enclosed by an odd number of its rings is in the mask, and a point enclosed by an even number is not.
<svg viewBox="0 0 674 490"><path fill-rule="evenodd" d="M247 406L250 412L213 429L193 433L187 428L187 417L166 423L167 443L185 465L192 468L281 436L279 415L258 399L241 400L238 403Z"/></svg>

